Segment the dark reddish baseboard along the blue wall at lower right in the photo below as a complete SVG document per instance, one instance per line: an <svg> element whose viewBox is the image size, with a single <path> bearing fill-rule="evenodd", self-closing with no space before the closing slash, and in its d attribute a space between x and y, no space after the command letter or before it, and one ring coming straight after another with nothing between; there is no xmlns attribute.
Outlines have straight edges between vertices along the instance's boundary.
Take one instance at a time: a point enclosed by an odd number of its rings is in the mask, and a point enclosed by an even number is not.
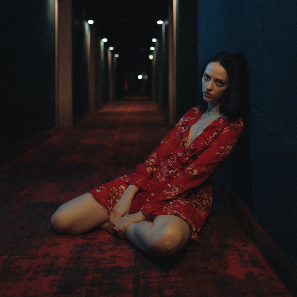
<svg viewBox="0 0 297 297"><path fill-rule="evenodd" d="M230 211L243 226L247 235L255 242L269 266L278 274L282 282L297 296L297 268L285 253L274 243L265 230L252 217L238 200L236 194L229 191Z"/></svg>

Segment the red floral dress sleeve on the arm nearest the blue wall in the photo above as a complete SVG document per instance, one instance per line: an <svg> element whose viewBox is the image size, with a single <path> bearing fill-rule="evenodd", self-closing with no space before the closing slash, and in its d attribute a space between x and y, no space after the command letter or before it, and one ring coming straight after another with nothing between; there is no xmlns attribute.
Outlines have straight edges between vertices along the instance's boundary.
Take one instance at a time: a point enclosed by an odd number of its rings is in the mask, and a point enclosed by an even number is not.
<svg viewBox="0 0 297 297"><path fill-rule="evenodd" d="M154 202L175 199L188 189L201 185L233 151L242 131L242 120L228 124L217 135L214 142L182 174L160 183L160 187L152 194ZM141 211L149 213L148 210L151 209L152 204L155 203L148 201Z"/></svg>

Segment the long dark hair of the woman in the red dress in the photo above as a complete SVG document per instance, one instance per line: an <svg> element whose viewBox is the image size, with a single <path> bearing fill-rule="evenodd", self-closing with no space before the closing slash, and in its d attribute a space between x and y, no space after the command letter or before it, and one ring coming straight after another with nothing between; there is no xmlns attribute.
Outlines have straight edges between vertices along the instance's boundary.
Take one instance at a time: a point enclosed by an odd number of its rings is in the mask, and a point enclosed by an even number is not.
<svg viewBox="0 0 297 297"><path fill-rule="evenodd" d="M211 62L219 62L227 71L229 86L220 100L220 113L230 121L244 116L249 101L249 71L243 54L221 52L211 57L203 67L201 79L206 66Z"/></svg>

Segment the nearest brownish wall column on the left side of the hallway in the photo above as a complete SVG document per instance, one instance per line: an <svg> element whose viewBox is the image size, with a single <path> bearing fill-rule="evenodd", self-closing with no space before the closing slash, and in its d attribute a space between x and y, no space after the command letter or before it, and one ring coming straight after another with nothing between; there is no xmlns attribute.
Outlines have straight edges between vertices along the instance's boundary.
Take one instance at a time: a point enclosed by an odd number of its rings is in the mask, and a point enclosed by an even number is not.
<svg viewBox="0 0 297 297"><path fill-rule="evenodd" d="M55 2L56 127L72 125L72 1Z"/></svg>

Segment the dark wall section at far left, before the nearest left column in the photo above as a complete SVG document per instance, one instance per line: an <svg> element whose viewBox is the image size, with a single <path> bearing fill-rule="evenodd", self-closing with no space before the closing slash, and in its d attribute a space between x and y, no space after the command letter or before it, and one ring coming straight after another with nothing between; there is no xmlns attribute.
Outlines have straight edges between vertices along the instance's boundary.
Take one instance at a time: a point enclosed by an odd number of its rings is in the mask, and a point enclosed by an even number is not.
<svg viewBox="0 0 297 297"><path fill-rule="evenodd" d="M55 126L54 2L1 3L0 151Z"/></svg>

